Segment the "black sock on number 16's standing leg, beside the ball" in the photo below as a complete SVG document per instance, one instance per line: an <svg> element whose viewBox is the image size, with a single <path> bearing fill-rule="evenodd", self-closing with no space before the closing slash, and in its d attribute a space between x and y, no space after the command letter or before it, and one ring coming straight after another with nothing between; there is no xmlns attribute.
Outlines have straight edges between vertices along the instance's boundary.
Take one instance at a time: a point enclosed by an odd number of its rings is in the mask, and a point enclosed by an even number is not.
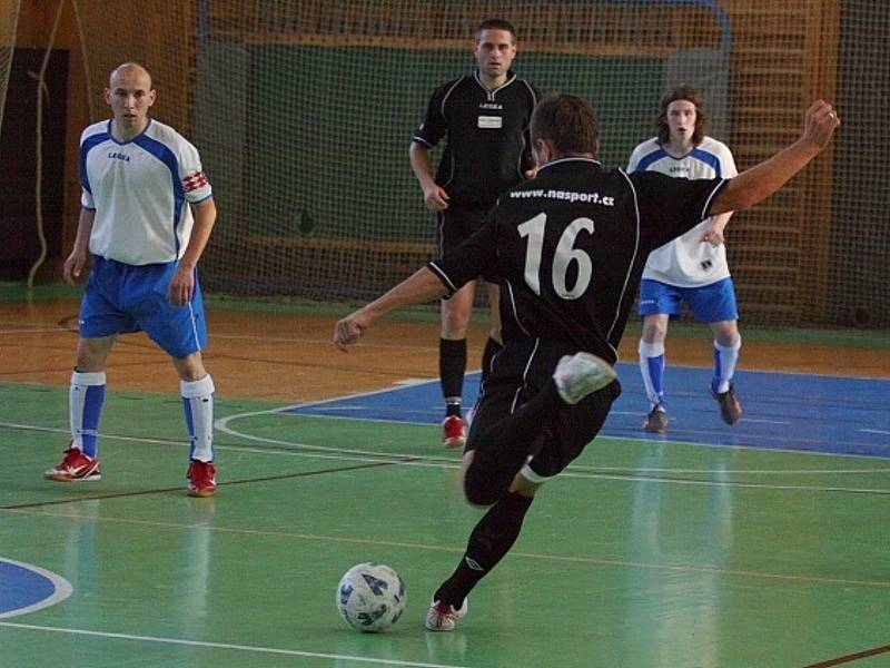
<svg viewBox="0 0 890 668"><path fill-rule="evenodd" d="M522 529L532 498L508 493L488 509L469 534L461 563L433 596L434 600L459 608L469 590L510 551Z"/></svg>

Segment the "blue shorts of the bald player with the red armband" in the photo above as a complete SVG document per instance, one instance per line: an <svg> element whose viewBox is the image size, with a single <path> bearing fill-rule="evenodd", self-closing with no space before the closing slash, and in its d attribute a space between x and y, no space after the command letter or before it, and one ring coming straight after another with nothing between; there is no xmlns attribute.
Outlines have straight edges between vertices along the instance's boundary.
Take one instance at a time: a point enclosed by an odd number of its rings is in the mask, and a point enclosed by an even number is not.
<svg viewBox="0 0 890 668"><path fill-rule="evenodd" d="M93 257L95 264L80 304L80 336L100 338L145 332L174 357L207 346L207 321L200 285L195 279L191 303L167 301L177 263L127 265Z"/></svg>

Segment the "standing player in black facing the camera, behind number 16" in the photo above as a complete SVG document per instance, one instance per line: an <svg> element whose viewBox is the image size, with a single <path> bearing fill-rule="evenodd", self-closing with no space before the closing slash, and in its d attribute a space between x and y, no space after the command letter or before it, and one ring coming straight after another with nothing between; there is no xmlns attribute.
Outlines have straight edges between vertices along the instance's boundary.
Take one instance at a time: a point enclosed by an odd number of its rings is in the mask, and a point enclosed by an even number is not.
<svg viewBox="0 0 890 668"><path fill-rule="evenodd" d="M540 96L510 69L516 56L516 31L501 19L483 21L476 28L473 53L477 69L436 89L409 150L424 204L436 213L438 252L446 257L482 226L498 195L534 176L528 122ZM447 137L445 150L434 178L431 149L443 137ZM501 348L501 325L495 277L490 271L481 276L492 305L492 328L482 360L484 379ZM466 435L461 394L475 289L476 282L471 281L442 302L439 376L446 448L463 446Z"/></svg>

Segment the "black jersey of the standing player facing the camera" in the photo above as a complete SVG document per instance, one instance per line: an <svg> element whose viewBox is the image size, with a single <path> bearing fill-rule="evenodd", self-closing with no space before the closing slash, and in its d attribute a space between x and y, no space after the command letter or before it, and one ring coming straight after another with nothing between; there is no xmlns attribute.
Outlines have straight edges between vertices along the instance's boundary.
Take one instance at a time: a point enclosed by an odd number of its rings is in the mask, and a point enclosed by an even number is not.
<svg viewBox="0 0 890 668"><path fill-rule="evenodd" d="M413 140L433 148L447 135L436 183L452 204L492 205L522 183L534 166L528 122L538 98L513 71L494 90L478 71L436 89Z"/></svg>

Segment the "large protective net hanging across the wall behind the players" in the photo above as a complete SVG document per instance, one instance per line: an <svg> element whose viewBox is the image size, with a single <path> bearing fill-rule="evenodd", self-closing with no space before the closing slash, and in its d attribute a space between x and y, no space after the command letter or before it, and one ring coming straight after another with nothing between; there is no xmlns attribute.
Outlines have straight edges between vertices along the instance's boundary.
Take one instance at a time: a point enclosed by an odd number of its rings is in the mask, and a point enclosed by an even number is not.
<svg viewBox="0 0 890 668"><path fill-rule="evenodd" d="M597 109L606 167L654 135L659 98L704 92L744 169L793 140L824 97L843 128L782 193L735 216L746 322L890 326L886 84L890 3L873 0L147 0L78 2L91 87L126 59L156 117L201 150L220 210L210 291L367 298L435 249L408 163L433 89L469 71L472 33L510 20L514 69ZM98 100L98 98L95 98ZM97 105L93 117L106 109ZM437 154L434 154L437 157Z"/></svg>

